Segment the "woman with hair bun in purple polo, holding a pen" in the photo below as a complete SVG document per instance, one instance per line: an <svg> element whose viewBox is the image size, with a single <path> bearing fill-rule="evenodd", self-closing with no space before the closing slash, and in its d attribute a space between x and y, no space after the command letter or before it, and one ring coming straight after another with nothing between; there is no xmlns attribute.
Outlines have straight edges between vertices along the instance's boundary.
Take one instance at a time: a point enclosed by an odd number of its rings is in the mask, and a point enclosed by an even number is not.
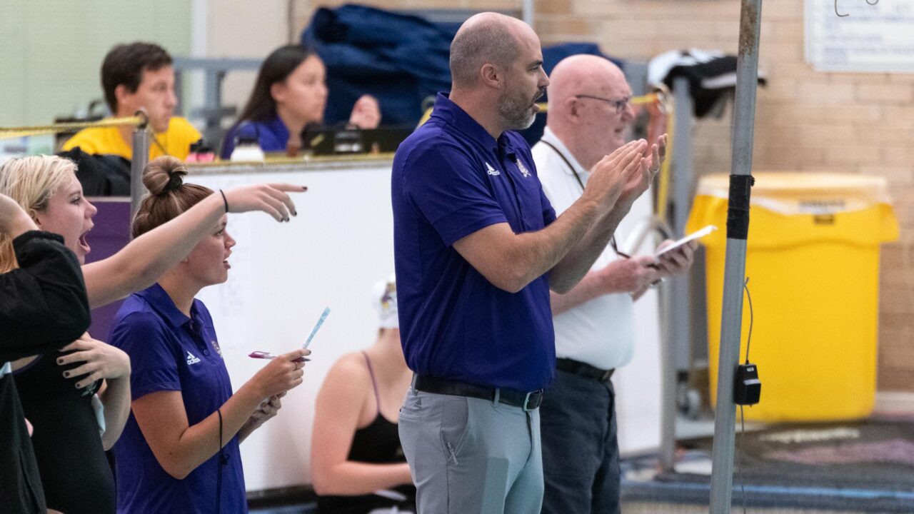
<svg viewBox="0 0 914 514"><path fill-rule="evenodd" d="M133 219L134 237L214 196L184 184L186 173L171 157L146 166L150 195ZM302 383L306 349L272 359L232 393L213 320L195 298L228 280L235 240L226 224L225 215L214 220L184 260L114 318L112 345L133 362L132 412L114 445L118 512L247 512L239 443Z"/></svg>

